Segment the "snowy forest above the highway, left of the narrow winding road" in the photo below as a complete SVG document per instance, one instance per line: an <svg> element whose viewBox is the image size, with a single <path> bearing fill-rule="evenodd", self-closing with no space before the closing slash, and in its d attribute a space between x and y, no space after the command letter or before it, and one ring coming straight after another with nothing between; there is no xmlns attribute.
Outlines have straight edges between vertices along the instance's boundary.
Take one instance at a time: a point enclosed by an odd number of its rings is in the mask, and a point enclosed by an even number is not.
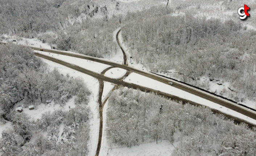
<svg viewBox="0 0 256 156"><path fill-rule="evenodd" d="M108 17L106 6L90 0L5 0L0 4L4 15L0 17L0 34L38 38L59 50L100 58L116 54L118 45L112 42L112 32L123 16Z"/></svg>

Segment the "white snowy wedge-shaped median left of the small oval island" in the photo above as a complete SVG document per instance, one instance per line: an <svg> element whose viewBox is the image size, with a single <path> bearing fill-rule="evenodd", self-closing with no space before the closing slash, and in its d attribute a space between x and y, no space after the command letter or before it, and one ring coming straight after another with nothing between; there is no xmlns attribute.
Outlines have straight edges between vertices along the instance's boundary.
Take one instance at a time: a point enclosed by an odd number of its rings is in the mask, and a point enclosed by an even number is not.
<svg viewBox="0 0 256 156"><path fill-rule="evenodd" d="M75 64L79 67L82 67L84 69L88 69L88 70L96 72L96 73L101 73L104 69L106 69L108 67L111 67L109 65L94 62L94 61L91 61L91 60L85 60L85 59L70 57L70 56L66 56L66 55L54 54L54 53L51 53L51 52L44 52L44 51L35 51L35 52L41 53L41 54L46 55L46 56L50 56L52 58L63 60L67 63Z"/></svg>

